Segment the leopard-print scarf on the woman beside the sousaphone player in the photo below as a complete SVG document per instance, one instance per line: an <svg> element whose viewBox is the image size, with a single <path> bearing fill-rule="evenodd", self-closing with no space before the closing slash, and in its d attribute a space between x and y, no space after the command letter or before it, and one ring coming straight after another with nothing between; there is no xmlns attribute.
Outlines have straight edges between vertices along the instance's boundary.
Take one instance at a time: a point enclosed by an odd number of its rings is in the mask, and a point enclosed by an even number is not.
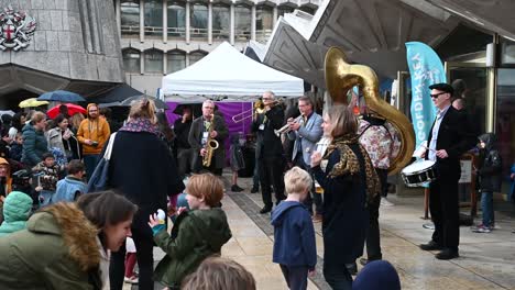
<svg viewBox="0 0 515 290"><path fill-rule="evenodd" d="M366 204L370 204L376 194L381 192L381 185L375 172L375 169L370 160L369 154L363 146L359 143L359 135L355 133L349 133L343 136L335 138L331 144L327 147L327 152L324 156L324 159L329 158L331 153L336 149L340 150L340 161L337 163L331 171L328 174L329 178L336 178L344 175L359 175L361 172L360 161L354 152L350 148L349 145L357 144L360 148L361 155L364 159L364 171L365 171L365 182L366 182Z"/></svg>

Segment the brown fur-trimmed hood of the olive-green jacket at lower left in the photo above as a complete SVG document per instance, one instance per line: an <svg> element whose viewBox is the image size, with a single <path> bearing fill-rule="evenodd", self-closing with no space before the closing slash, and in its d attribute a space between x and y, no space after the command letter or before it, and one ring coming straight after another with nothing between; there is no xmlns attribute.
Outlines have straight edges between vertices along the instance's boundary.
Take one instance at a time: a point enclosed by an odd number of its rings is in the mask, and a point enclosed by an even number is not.
<svg viewBox="0 0 515 290"><path fill-rule="evenodd" d="M84 271L100 264L98 230L75 203L59 202L44 208L29 220L26 230L62 236L69 257L77 261Z"/></svg>

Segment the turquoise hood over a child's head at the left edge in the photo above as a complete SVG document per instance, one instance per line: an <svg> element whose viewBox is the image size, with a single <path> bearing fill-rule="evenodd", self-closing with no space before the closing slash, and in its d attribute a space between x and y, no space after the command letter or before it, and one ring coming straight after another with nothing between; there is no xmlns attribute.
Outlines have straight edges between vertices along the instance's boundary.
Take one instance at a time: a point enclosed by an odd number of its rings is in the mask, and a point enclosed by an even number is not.
<svg viewBox="0 0 515 290"><path fill-rule="evenodd" d="M12 191L3 203L6 223L25 222L32 210L32 198L21 191Z"/></svg>

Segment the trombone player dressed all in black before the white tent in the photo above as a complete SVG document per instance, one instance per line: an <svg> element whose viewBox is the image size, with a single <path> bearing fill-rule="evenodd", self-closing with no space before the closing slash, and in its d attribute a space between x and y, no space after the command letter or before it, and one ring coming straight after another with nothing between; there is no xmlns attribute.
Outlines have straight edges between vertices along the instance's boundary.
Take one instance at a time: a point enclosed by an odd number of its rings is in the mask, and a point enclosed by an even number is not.
<svg viewBox="0 0 515 290"><path fill-rule="evenodd" d="M284 157L283 144L274 130L281 129L284 112L275 104L275 96L271 91L263 93L265 112L258 114L252 123L252 131L258 133L256 156L260 163L260 183L264 207L260 213L272 211L272 190L274 186L276 204L286 199L284 196Z"/></svg>

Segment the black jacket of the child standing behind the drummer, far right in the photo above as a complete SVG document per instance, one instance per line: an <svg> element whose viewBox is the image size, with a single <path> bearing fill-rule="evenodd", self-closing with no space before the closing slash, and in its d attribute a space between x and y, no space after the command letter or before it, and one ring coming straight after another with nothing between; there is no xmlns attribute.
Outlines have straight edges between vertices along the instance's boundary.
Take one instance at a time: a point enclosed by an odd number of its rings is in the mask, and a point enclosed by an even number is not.
<svg viewBox="0 0 515 290"><path fill-rule="evenodd" d="M502 159L495 148L495 134L486 133L479 136L484 142L484 149L480 150L479 179L481 191L500 192L502 185Z"/></svg>

